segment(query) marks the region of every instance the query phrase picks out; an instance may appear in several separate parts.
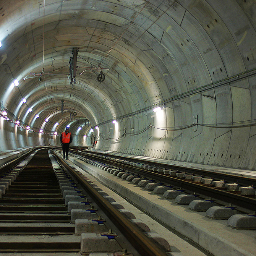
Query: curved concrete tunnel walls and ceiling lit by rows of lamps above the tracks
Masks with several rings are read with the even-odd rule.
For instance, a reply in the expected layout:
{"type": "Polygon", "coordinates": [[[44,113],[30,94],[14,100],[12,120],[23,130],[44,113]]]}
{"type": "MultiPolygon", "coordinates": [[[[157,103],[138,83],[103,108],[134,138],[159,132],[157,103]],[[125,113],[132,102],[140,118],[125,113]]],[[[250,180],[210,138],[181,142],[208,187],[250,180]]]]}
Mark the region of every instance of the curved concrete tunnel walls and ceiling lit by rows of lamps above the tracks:
{"type": "Polygon", "coordinates": [[[253,0],[0,4],[0,151],[73,146],[249,169],[253,0]]]}

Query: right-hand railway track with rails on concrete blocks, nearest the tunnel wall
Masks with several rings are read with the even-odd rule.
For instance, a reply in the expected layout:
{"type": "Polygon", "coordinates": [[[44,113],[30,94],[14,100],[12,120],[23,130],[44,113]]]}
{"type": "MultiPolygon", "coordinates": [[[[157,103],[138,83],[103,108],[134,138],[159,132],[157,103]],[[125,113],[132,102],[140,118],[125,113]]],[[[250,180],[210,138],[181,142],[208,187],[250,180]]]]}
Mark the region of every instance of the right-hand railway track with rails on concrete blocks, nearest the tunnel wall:
{"type": "MultiPolygon", "coordinates": [[[[149,190],[156,191],[156,187],[158,187],[162,194],[173,190],[175,192],[169,192],[169,195],[166,192],[164,196],[166,199],[174,199],[179,196],[181,200],[178,201],[178,198],[177,203],[180,204],[183,204],[183,202],[189,204],[196,198],[208,200],[207,206],[201,209],[205,211],[216,203],[222,206],[230,206],[232,209],[236,208],[241,213],[256,211],[255,178],[203,172],[202,170],[174,167],[173,165],[158,164],[145,160],[135,161],[128,157],[113,157],[105,154],[76,151],[73,151],[73,153],[115,168],[119,171],[115,173],[118,177],[127,178],[128,175],[131,175],[130,180],[137,178],[135,184],[149,190]],[[151,184],[149,185],[149,183],[151,184]],[[185,191],[189,197],[180,196],[185,191]]],[[[110,169],[108,171],[111,172],[110,169]]]]}

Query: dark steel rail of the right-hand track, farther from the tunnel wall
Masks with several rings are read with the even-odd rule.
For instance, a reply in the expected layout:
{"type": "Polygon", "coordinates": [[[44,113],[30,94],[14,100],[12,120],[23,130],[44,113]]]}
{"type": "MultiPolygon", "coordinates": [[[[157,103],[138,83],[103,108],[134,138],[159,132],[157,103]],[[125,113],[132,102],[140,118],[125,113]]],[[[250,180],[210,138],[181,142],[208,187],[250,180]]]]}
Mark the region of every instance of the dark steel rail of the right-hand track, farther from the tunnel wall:
{"type": "MultiPolygon", "coordinates": [[[[80,153],[81,154],[81,153],[80,153]]],[[[92,156],[90,156],[92,157],[92,156]]],[[[218,190],[216,188],[207,187],[204,185],[196,184],[190,181],[181,180],[179,178],[174,178],[168,175],[152,172],[150,170],[141,169],[139,167],[131,167],[130,165],[117,163],[112,160],[102,159],[100,157],[92,157],[94,160],[99,160],[105,164],[114,165],[117,168],[123,169],[124,171],[134,172],[139,175],[143,175],[154,180],[167,183],[173,186],[181,187],[185,190],[189,190],[192,193],[202,194],[213,199],[232,204],[234,206],[239,206],[251,211],[256,211],[256,199],[249,198],[246,196],[241,196],[238,194],[233,194],[227,191],[218,190]]]]}

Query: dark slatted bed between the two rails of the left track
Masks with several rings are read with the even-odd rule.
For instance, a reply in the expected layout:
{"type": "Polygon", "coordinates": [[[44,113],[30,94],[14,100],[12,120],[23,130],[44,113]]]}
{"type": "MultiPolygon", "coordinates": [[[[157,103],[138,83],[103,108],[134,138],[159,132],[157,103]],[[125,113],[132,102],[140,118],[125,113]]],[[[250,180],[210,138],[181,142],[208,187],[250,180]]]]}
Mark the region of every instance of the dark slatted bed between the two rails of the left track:
{"type": "Polygon", "coordinates": [[[79,251],[46,150],[24,167],[0,199],[0,251],[79,251]]]}

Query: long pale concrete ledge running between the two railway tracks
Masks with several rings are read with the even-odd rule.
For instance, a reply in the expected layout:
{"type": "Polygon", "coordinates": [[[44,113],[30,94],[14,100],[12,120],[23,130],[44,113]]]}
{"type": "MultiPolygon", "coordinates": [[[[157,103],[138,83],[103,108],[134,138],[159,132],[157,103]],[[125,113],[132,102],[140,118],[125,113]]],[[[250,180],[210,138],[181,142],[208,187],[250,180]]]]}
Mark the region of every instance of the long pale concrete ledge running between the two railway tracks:
{"type": "MultiPolygon", "coordinates": [[[[252,247],[254,235],[250,230],[243,230],[243,234],[234,235],[226,229],[225,220],[214,220],[209,224],[204,213],[190,212],[183,210],[183,207],[175,206],[173,201],[169,204],[158,199],[158,195],[148,194],[140,187],[134,187],[128,183],[120,182],[120,179],[104,175],[98,170],[91,168],[78,160],[73,160],[76,165],[94,175],[102,183],[117,191],[118,194],[129,198],[138,207],[150,212],[154,217],[174,228],[181,234],[190,238],[200,246],[210,251],[215,256],[254,256],[256,250],[252,247]],[[239,237],[239,239],[238,239],[239,237]]],[[[83,172],[83,171],[81,171],[83,172]]]]}

